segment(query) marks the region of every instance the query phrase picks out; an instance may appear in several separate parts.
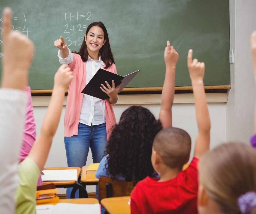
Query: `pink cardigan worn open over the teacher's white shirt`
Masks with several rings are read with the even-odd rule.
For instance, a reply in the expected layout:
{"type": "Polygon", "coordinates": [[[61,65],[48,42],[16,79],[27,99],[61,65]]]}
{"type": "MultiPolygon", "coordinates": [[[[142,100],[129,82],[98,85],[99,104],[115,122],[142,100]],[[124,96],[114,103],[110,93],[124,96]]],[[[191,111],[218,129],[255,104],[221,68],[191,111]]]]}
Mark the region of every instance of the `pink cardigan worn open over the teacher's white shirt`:
{"type": "MultiPolygon", "coordinates": [[[[78,54],[72,54],[73,61],[68,65],[73,71],[74,79],[69,84],[67,106],[64,116],[64,136],[71,137],[77,135],[78,123],[80,118],[82,100],[84,94],[81,91],[86,84],[86,62],[83,62],[81,56],[78,54]]],[[[105,64],[104,64],[105,67],[105,64]]],[[[117,73],[115,64],[112,64],[108,68],[104,68],[112,73],[117,73]]],[[[115,114],[112,106],[109,103],[109,99],[105,100],[105,112],[106,112],[106,130],[107,138],[111,134],[111,128],[116,124],[115,114]]]]}

